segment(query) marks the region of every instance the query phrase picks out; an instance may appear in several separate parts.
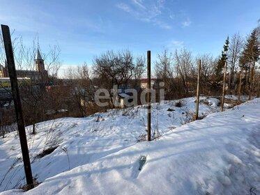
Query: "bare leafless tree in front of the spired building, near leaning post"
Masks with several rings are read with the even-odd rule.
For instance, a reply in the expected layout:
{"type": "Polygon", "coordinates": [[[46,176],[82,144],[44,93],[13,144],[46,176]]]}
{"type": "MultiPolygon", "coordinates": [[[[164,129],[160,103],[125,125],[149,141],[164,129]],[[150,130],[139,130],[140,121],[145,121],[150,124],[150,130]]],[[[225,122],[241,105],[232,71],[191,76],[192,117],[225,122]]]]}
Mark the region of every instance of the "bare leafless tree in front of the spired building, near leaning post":
{"type": "MultiPolygon", "coordinates": [[[[0,41],[0,60],[4,61],[3,42],[0,41]]],[[[35,124],[45,120],[47,104],[50,104],[49,100],[47,100],[45,86],[54,81],[61,67],[59,59],[61,49],[59,49],[58,45],[54,45],[49,47],[47,54],[43,54],[45,70],[43,72],[36,71],[35,56],[37,47],[36,39],[33,40],[31,46],[24,45],[22,36],[13,39],[17,77],[24,79],[24,81],[20,82],[24,120],[26,125],[33,125],[33,134],[36,133],[35,124]],[[30,81],[25,77],[29,77],[30,81]]]]}

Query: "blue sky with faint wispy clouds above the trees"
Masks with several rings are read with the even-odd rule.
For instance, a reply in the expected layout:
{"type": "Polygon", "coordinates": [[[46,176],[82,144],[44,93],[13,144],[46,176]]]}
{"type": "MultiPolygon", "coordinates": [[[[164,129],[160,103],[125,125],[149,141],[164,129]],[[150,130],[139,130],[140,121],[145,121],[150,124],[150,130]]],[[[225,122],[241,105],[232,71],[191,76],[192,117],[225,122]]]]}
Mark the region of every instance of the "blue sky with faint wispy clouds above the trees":
{"type": "Polygon", "coordinates": [[[227,36],[246,36],[260,19],[259,0],[1,0],[0,22],[40,48],[59,44],[64,67],[92,63],[108,49],[134,54],[186,47],[221,53],[227,36]]]}

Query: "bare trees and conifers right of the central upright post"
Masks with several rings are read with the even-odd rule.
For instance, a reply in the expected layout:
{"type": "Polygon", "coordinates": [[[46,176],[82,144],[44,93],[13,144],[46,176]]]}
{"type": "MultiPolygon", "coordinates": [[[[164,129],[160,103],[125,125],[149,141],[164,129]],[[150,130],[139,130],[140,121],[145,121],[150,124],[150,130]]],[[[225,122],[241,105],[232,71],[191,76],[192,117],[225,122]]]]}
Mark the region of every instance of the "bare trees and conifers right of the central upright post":
{"type": "Polygon", "coordinates": [[[155,77],[165,81],[167,99],[194,95],[197,61],[201,59],[201,93],[220,95],[224,65],[227,62],[227,93],[257,95],[259,93],[260,26],[243,38],[239,33],[227,37],[220,56],[192,56],[188,49],[165,50],[155,61],[155,77]],[[240,77],[241,75],[241,77],[240,77]]]}

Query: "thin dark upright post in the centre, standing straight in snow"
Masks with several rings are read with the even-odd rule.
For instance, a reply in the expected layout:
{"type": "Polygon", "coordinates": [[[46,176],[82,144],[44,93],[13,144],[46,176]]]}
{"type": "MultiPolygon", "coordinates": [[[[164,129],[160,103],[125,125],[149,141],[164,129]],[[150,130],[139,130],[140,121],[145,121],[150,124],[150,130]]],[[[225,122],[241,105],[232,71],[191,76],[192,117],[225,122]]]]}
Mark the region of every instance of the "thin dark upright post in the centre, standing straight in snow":
{"type": "Polygon", "coordinates": [[[147,51],[147,140],[151,141],[151,51],[147,51]]]}

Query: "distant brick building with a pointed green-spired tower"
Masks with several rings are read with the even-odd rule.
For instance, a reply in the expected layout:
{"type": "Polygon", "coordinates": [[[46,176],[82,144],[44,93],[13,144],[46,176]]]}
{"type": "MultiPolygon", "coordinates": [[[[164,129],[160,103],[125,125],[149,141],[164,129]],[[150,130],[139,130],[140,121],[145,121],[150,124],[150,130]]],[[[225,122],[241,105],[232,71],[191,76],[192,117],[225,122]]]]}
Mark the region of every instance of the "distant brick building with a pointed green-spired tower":
{"type": "MultiPolygon", "coordinates": [[[[16,70],[17,77],[30,78],[32,84],[47,84],[48,72],[45,70],[44,60],[37,49],[35,58],[36,70],[16,70]]],[[[5,66],[0,64],[0,78],[9,77],[8,65],[5,61],[5,66]]]]}

